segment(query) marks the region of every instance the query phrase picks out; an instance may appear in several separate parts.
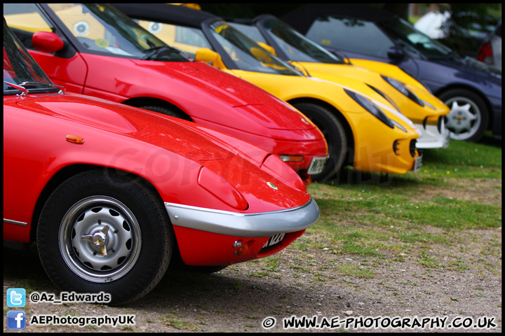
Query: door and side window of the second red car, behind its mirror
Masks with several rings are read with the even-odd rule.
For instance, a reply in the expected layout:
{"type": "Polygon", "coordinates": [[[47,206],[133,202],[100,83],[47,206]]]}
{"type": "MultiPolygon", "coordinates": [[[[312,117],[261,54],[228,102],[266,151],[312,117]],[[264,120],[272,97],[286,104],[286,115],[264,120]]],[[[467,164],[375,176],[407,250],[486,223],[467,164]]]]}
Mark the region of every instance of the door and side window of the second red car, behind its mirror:
{"type": "Polygon", "coordinates": [[[16,36],[56,85],[70,92],[83,93],[88,66],[79,52],[35,3],[4,3],[4,18],[16,36]],[[57,34],[65,47],[54,53],[36,50],[32,36],[37,31],[57,34]]]}

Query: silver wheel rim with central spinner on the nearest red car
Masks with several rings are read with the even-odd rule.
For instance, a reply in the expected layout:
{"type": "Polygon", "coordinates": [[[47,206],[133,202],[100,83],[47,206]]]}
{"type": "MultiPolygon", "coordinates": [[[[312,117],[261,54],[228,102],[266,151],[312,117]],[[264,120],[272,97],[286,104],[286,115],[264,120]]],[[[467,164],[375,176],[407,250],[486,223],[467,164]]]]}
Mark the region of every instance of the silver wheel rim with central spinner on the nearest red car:
{"type": "Polygon", "coordinates": [[[74,204],[62,219],[58,238],[60,253],[72,272],[96,283],[128,274],[142,245],[133,212],[106,196],[74,204]]]}

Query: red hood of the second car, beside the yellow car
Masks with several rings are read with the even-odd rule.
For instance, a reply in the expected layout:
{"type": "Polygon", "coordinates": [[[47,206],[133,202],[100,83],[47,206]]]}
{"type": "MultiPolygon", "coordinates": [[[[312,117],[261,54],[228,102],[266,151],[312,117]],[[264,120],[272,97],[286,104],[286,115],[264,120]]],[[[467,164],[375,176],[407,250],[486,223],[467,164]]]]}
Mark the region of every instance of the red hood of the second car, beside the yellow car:
{"type": "Polygon", "coordinates": [[[202,62],[156,62],[132,59],[137,66],[158,71],[207,92],[230,106],[241,106],[257,123],[276,130],[311,130],[314,125],[292,106],[246,80],[202,62]],[[296,113],[293,113],[295,111],[296,113]],[[305,119],[302,120],[302,119],[305,119]]]}

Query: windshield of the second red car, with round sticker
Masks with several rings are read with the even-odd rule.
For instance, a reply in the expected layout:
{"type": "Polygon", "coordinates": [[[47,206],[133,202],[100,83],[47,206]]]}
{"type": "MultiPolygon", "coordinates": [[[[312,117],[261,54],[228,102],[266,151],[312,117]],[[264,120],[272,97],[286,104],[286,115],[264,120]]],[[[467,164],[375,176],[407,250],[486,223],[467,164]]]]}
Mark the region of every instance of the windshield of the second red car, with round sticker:
{"type": "Polygon", "coordinates": [[[169,47],[112,6],[98,3],[48,3],[47,6],[83,52],[188,62],[179,50],[169,47]]]}

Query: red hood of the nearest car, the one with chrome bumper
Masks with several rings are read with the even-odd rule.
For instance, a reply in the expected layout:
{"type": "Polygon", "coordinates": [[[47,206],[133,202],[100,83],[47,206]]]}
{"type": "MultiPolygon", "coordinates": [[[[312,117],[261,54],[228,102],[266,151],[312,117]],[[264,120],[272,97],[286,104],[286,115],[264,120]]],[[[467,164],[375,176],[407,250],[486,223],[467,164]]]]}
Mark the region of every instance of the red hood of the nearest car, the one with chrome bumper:
{"type": "MultiPolygon", "coordinates": [[[[184,121],[176,118],[80,94],[32,97],[36,99],[28,97],[18,101],[17,105],[166,148],[196,162],[222,160],[238,155],[238,151],[220,139],[184,125],[184,121]]],[[[8,104],[8,99],[4,99],[4,104],[8,104]]]]}

